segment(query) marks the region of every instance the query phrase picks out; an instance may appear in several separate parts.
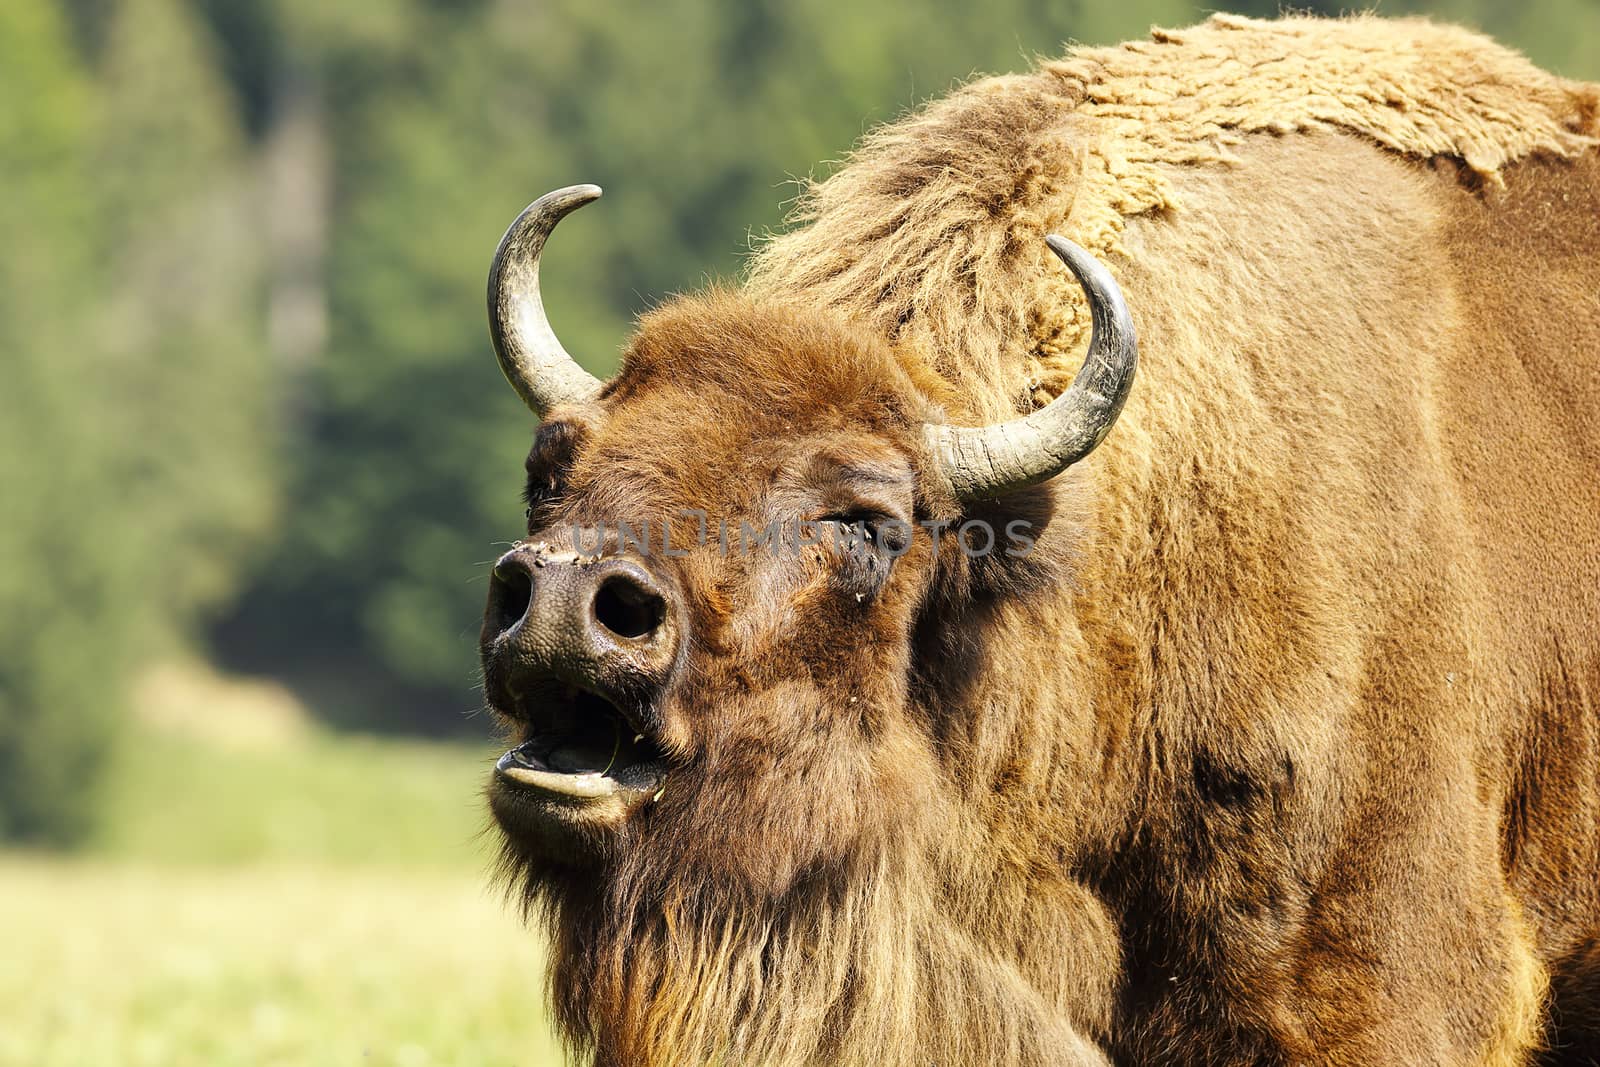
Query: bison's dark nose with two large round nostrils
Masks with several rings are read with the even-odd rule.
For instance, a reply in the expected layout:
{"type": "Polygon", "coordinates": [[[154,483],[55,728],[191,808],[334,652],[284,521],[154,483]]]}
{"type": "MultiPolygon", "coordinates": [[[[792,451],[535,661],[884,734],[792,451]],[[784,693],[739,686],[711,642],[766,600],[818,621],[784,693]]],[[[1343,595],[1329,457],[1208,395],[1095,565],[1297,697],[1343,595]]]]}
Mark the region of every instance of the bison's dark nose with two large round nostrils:
{"type": "Polygon", "coordinates": [[[659,675],[674,640],[666,593],[637,561],[520,545],[494,563],[485,651],[531,670],[608,688],[659,675]]]}

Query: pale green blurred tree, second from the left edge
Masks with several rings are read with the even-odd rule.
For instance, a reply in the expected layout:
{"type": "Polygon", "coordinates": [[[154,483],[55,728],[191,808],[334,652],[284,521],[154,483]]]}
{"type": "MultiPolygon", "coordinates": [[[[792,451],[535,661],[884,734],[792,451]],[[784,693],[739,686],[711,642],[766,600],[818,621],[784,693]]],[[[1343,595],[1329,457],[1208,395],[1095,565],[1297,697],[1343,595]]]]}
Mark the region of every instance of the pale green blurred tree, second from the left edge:
{"type": "MultiPolygon", "coordinates": [[[[213,43],[182,0],[118,0],[99,64],[98,365],[122,387],[106,472],[155,621],[234,589],[275,514],[259,181],[213,43]]],[[[162,624],[157,622],[157,624],[162,624]]]]}

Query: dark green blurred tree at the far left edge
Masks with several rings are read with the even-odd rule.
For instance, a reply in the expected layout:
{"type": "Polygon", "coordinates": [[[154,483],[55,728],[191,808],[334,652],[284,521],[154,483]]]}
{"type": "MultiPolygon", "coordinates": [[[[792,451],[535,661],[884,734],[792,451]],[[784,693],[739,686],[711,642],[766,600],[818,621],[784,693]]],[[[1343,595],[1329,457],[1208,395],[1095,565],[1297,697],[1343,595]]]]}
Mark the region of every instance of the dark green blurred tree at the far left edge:
{"type": "Polygon", "coordinates": [[[0,109],[0,838],[69,840],[114,721],[126,587],[86,403],[93,93],[50,5],[0,5],[0,86],[29,101],[0,109]]]}

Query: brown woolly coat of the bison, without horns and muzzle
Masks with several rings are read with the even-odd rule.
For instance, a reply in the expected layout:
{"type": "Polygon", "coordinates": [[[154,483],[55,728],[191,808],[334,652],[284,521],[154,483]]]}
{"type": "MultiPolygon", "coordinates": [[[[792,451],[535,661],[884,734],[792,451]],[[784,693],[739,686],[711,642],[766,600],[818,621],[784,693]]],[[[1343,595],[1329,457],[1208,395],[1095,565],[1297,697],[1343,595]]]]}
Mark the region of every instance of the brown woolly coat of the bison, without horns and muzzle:
{"type": "Polygon", "coordinates": [[[507,837],[574,1046],[1594,1062],[1597,112],[1448,27],[1216,18],[874,133],[744,290],[648,315],[541,430],[530,533],[866,494],[1038,544],[651,561],[666,793],[581,857],[507,837]],[[1075,370],[1045,232],[1122,283],[1138,381],[963,510],[923,421],[1075,370]]]}

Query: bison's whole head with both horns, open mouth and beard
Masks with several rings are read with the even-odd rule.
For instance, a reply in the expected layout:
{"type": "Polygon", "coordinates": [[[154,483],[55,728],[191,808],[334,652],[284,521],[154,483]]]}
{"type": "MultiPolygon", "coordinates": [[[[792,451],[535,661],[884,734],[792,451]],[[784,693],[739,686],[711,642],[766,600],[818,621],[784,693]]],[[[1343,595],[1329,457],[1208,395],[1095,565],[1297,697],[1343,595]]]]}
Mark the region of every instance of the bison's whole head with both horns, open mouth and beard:
{"type": "Polygon", "coordinates": [[[544,418],[482,633],[514,742],[490,785],[507,872],[549,920],[565,1029],[603,1062],[826,1057],[931,1003],[926,974],[885,974],[949,958],[907,923],[978,833],[941,744],[944,624],[1043,566],[1048,498],[1016,490],[1109,430],[1131,326],[1109,275],[1050,238],[1094,341],[1013,422],[954,427],[960,397],[917,358],[738,293],[646,315],[602,386],[538,294],[549,230],[597,195],[530,206],[490,278],[501,366],[544,418]]]}

